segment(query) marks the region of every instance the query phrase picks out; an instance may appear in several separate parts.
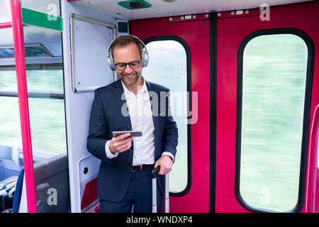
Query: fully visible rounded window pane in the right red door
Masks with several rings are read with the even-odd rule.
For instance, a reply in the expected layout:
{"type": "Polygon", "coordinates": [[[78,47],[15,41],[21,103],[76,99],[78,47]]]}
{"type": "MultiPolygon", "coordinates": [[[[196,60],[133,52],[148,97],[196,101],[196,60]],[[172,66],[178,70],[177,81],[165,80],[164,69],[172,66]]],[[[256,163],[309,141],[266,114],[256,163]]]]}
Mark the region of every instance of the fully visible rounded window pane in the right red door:
{"type": "Polygon", "coordinates": [[[293,33],[255,35],[238,56],[237,199],[252,211],[292,211],[308,140],[308,46],[293,33]]]}

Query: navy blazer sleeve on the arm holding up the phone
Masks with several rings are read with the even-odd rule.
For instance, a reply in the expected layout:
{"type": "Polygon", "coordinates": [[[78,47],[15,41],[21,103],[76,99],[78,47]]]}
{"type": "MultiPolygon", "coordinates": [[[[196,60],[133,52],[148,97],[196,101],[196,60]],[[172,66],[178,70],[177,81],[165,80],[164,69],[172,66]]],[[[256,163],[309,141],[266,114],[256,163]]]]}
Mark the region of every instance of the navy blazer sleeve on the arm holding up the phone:
{"type": "Polygon", "coordinates": [[[96,89],[94,92],[94,101],[91,107],[91,116],[89,120],[89,135],[87,137],[86,148],[89,153],[102,161],[111,164],[116,158],[109,160],[106,156],[105,145],[108,141],[108,124],[104,114],[101,101],[101,94],[96,89]]]}

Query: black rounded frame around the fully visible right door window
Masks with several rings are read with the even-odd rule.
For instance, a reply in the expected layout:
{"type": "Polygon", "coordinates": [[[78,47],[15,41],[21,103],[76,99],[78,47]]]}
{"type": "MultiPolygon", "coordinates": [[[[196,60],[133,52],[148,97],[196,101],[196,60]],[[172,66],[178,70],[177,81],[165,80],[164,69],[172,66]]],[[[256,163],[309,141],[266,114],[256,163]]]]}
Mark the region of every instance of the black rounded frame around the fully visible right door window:
{"type": "Polygon", "coordinates": [[[243,54],[247,43],[253,38],[261,35],[281,35],[290,34],[297,35],[303,39],[308,48],[308,60],[306,69],[306,89],[303,106],[303,131],[301,138],[301,165],[298,185],[298,200],[296,206],[293,209],[283,213],[300,212],[303,209],[305,202],[305,188],[306,188],[306,167],[307,167],[307,155],[308,155],[308,143],[309,143],[309,130],[310,130],[310,108],[311,108],[311,94],[313,87],[313,67],[314,67],[314,45],[311,38],[303,31],[296,28],[276,28],[276,29],[264,29],[255,31],[247,35],[237,52],[237,115],[236,115],[236,148],[235,148],[235,196],[237,201],[248,211],[252,212],[278,212],[268,209],[261,209],[250,204],[242,199],[240,194],[240,157],[241,157],[241,128],[242,128],[242,74],[243,74],[243,54]]]}

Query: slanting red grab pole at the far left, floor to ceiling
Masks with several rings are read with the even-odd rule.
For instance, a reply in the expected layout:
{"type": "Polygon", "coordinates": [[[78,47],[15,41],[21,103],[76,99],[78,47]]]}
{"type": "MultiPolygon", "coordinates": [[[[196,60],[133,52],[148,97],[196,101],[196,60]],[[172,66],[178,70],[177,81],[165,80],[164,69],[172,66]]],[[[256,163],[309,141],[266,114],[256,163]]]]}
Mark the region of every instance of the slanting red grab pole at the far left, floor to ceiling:
{"type": "Polygon", "coordinates": [[[18,101],[20,109],[21,135],[23,147],[24,175],[26,177],[26,195],[28,213],[37,212],[35,197],[35,180],[28,109],[28,89],[26,82],[26,59],[24,55],[23,26],[19,0],[11,0],[12,30],[14,55],[16,59],[16,79],[18,84],[18,101]]]}

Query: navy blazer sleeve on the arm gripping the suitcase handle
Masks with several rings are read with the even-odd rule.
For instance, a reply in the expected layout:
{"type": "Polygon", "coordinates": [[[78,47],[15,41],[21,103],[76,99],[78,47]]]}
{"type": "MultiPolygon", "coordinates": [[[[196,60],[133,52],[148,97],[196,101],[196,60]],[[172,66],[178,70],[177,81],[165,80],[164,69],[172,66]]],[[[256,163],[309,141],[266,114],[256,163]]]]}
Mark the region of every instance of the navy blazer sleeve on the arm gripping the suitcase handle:
{"type": "MultiPolygon", "coordinates": [[[[178,130],[177,123],[174,121],[172,116],[172,111],[170,107],[169,101],[169,90],[167,90],[167,100],[166,100],[166,114],[164,117],[164,133],[163,133],[163,141],[164,147],[163,152],[172,153],[172,155],[176,155],[177,152],[177,143],[178,143],[178,130]]],[[[175,158],[174,158],[175,160],[175,158]]]]}

